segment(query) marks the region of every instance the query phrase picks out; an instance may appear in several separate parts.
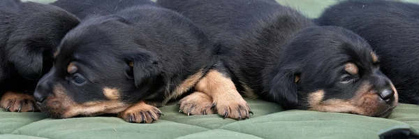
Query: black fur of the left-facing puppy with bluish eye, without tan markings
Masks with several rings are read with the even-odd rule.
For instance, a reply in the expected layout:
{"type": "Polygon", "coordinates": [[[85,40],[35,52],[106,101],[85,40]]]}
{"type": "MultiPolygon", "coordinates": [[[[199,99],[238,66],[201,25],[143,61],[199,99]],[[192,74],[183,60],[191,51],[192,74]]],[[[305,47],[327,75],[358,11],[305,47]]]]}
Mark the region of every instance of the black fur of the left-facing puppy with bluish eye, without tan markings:
{"type": "Polygon", "coordinates": [[[61,115],[47,110],[44,98],[54,95],[55,85],[62,85],[76,103],[107,101],[105,87],[118,89],[124,103],[161,103],[168,92],[215,61],[214,44],[186,17],[148,4],[134,6],[91,17],[71,30],[35,96],[41,110],[53,117],[61,115]],[[70,62],[78,66],[77,73],[66,71],[70,62]],[[85,82],[78,84],[80,80],[85,82]]]}

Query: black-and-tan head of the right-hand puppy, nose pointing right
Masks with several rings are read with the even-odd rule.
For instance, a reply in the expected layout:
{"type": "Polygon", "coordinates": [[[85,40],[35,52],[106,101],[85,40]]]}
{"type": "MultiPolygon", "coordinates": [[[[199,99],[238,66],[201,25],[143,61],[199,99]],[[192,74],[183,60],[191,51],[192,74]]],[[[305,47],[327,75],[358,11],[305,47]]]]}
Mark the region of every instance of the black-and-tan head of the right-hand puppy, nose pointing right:
{"type": "Polygon", "coordinates": [[[367,42],[339,27],[312,27],[288,43],[271,94],[288,108],[387,117],[397,91],[367,42]]]}

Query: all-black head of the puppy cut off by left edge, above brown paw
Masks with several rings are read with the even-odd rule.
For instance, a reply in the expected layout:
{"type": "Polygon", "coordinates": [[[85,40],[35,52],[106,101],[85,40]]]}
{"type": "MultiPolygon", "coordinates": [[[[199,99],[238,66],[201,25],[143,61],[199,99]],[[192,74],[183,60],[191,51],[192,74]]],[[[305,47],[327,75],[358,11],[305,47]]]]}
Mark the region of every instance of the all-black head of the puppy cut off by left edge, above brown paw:
{"type": "MultiPolygon", "coordinates": [[[[5,45],[6,59],[19,75],[28,80],[38,80],[52,66],[52,54],[61,38],[79,20],[56,6],[41,3],[20,3],[19,10],[2,20],[8,24],[5,45]]],[[[3,21],[3,22],[4,22],[3,21]]]]}

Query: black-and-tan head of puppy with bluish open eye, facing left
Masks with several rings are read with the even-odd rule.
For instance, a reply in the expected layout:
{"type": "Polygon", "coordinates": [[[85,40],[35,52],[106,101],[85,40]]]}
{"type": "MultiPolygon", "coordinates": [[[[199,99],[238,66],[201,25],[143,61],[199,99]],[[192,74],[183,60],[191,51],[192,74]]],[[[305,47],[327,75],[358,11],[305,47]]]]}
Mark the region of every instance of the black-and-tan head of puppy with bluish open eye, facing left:
{"type": "MultiPolygon", "coordinates": [[[[34,96],[52,117],[117,113],[163,80],[159,57],[140,48],[122,17],[95,17],[68,32],[34,96]]],[[[144,42],[142,45],[149,45],[144,42]]]]}

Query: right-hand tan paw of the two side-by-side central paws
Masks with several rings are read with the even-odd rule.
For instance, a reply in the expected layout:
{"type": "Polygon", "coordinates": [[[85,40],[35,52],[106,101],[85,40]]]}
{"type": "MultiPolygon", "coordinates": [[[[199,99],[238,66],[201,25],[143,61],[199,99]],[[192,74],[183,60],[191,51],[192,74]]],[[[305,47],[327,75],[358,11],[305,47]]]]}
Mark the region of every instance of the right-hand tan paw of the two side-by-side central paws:
{"type": "Polygon", "coordinates": [[[231,119],[248,119],[253,115],[250,106],[240,97],[225,96],[214,99],[214,105],[219,115],[231,119]]]}

